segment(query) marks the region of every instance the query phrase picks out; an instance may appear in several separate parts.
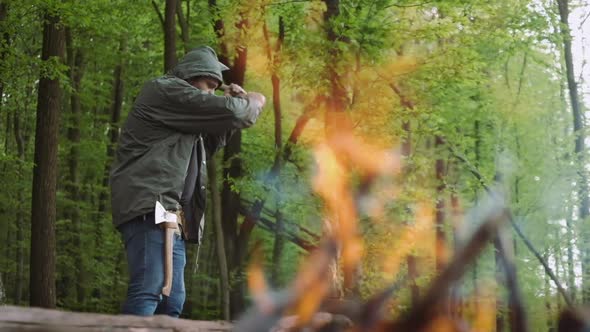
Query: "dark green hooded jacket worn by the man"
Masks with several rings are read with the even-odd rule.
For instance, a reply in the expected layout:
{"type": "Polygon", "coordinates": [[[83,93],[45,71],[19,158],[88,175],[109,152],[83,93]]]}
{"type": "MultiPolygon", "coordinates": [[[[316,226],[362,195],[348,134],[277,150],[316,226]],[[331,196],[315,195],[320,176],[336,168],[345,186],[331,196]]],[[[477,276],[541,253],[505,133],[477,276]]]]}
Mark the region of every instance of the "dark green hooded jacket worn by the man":
{"type": "Polygon", "coordinates": [[[249,97],[208,94],[186,81],[209,76],[221,83],[227,69],[213,49],[199,47],[170,73],[145,83],[121,132],[111,170],[115,226],[154,211],[159,201],[167,210],[182,209],[186,240],[200,242],[207,156],[224,146],[234,130],[252,126],[261,111],[249,97]],[[194,188],[194,194],[187,188],[194,188]],[[186,197],[188,192],[192,197],[186,197]]]}

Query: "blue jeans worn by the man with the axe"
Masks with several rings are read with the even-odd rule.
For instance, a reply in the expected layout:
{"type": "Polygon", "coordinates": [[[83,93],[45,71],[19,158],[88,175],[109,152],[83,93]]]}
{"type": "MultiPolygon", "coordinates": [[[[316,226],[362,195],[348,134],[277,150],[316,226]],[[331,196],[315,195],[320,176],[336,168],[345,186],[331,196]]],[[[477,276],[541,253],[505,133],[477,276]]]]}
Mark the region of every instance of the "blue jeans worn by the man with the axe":
{"type": "Polygon", "coordinates": [[[154,222],[154,214],[138,217],[118,227],[127,252],[129,286],[122,313],[138,316],[178,317],[186,296],[184,240],[174,234],[173,277],[170,296],[162,295],[164,285],[164,230],[154,222]]]}

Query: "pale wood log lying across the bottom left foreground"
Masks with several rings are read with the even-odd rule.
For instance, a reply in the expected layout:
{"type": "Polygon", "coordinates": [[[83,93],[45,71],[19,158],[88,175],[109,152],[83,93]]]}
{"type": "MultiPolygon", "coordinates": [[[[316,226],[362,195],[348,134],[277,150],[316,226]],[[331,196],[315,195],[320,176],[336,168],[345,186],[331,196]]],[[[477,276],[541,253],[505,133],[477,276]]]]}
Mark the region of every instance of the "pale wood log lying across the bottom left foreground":
{"type": "Polygon", "coordinates": [[[0,331],[8,332],[202,332],[230,331],[231,328],[230,323],[222,321],[193,321],[163,315],[140,317],[0,306],[0,331]]]}

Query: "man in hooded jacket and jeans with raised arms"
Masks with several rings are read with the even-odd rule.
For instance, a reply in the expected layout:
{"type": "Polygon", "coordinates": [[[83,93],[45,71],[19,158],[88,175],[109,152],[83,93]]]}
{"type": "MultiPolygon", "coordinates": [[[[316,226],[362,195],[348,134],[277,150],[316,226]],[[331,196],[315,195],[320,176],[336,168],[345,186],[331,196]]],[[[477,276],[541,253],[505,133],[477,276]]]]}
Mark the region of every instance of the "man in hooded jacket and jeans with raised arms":
{"type": "Polygon", "coordinates": [[[227,69],[213,49],[192,50],[143,86],[123,127],[110,184],[113,224],[129,266],[124,314],[178,317],[182,311],[185,241],[200,243],[203,235],[206,160],[234,130],[252,126],[266,102],[235,84],[215,95],[227,69]],[[162,295],[168,240],[161,225],[175,229],[169,296],[162,295]]]}

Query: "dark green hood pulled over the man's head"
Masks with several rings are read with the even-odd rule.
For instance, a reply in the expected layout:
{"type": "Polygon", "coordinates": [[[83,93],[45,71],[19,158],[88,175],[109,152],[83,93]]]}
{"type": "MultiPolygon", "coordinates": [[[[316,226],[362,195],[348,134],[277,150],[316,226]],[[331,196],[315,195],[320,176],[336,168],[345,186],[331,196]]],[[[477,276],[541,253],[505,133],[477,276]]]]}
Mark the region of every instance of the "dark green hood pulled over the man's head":
{"type": "Polygon", "coordinates": [[[174,67],[171,74],[183,80],[195,76],[212,77],[223,83],[222,71],[229,68],[217,60],[217,54],[209,46],[200,46],[188,52],[174,67]]]}

